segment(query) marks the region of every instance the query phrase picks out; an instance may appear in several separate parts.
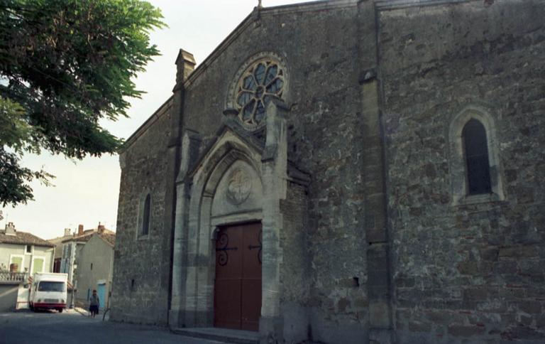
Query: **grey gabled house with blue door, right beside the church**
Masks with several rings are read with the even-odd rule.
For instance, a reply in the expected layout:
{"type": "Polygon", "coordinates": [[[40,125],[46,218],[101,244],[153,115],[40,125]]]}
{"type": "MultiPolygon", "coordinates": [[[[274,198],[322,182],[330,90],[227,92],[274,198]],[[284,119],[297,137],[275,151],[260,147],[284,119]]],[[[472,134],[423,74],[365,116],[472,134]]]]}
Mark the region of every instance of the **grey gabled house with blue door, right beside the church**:
{"type": "Polygon", "coordinates": [[[97,290],[100,308],[108,307],[111,280],[114,271],[114,245],[116,235],[99,227],[77,256],[76,302],[87,306],[93,289],[97,290]]]}

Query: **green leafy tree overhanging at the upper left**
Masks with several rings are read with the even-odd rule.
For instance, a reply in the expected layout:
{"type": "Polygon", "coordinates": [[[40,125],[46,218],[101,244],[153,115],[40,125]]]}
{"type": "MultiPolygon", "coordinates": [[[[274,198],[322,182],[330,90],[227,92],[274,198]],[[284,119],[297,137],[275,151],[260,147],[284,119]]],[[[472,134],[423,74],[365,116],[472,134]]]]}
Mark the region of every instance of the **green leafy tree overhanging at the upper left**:
{"type": "Polygon", "coordinates": [[[42,149],[69,158],[113,154],[99,119],[126,117],[131,80],[159,55],[160,10],[141,0],[0,0],[0,203],[33,199],[52,175],[21,166],[42,149]]]}

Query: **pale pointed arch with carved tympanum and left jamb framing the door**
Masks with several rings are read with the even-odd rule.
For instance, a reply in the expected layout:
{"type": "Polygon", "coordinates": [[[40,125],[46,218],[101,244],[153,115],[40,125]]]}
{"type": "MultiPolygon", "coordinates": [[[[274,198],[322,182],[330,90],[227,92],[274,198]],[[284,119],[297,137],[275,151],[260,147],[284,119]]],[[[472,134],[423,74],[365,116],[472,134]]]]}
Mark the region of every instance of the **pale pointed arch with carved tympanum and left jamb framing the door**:
{"type": "Polygon", "coordinates": [[[185,321],[194,326],[214,326],[216,230],[263,220],[259,152],[229,131],[216,147],[192,178],[185,321]]]}

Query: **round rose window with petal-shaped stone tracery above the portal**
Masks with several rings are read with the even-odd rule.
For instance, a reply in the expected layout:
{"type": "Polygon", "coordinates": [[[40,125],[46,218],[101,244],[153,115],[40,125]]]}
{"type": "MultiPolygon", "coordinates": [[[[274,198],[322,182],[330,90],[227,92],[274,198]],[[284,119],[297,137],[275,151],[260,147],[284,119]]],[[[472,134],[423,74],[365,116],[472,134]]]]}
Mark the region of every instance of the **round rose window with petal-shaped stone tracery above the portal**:
{"type": "Polygon", "coordinates": [[[270,58],[258,60],[243,72],[236,88],[236,107],[243,124],[257,127],[263,122],[265,107],[273,98],[282,98],[284,85],[284,68],[270,58]]]}

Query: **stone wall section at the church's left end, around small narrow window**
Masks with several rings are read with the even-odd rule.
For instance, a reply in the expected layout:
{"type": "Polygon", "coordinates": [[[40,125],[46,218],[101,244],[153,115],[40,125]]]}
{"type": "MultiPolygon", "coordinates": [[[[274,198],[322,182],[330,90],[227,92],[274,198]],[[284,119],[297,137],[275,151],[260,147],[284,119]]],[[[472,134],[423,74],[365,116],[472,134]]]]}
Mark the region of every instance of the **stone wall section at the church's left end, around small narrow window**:
{"type": "Polygon", "coordinates": [[[167,144],[172,130],[170,102],[137,132],[121,153],[121,186],[114,249],[111,319],[167,323],[171,228],[165,227],[167,144]],[[149,234],[139,235],[138,217],[151,195],[149,234]]]}

